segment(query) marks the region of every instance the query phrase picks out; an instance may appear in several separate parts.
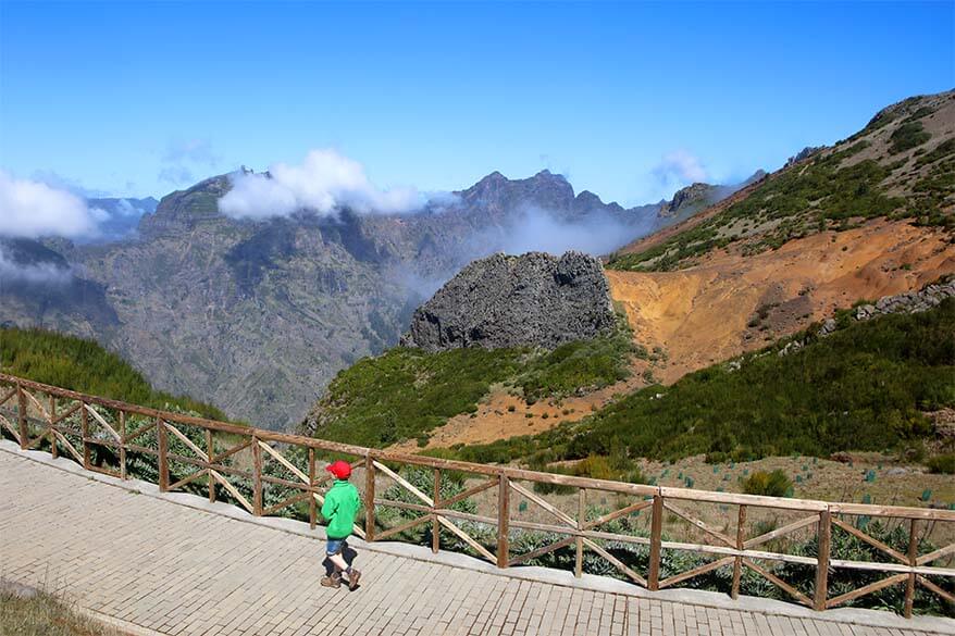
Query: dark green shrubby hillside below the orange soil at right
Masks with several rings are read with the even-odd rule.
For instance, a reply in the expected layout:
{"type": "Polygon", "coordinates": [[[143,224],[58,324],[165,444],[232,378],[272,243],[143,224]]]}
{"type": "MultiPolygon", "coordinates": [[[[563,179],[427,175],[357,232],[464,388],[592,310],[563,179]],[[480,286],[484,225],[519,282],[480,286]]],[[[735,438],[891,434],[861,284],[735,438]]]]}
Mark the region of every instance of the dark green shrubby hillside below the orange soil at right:
{"type": "MultiPolygon", "coordinates": [[[[712,461],[839,450],[922,447],[923,412],[955,407],[955,300],[913,315],[856,323],[843,316],[827,338],[779,356],[780,342],[670,387],[636,391],[578,424],[533,437],[457,448],[472,461],[607,457],[712,461]]],[[[798,337],[798,336],[797,336],[798,337]]]]}

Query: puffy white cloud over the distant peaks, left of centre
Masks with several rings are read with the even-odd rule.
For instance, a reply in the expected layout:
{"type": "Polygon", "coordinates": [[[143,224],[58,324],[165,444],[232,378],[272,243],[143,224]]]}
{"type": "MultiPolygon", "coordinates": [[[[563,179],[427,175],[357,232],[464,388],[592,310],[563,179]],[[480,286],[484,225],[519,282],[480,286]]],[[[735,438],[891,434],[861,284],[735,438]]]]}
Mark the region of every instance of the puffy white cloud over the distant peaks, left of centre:
{"type": "Polygon", "coordinates": [[[235,219],[266,219],[298,210],[331,214],[339,207],[361,214],[409,212],[422,202],[414,188],[376,188],[360,163],[325,149],[312,150],[300,165],[276,163],[268,175],[236,175],[219,209],[235,219]]]}

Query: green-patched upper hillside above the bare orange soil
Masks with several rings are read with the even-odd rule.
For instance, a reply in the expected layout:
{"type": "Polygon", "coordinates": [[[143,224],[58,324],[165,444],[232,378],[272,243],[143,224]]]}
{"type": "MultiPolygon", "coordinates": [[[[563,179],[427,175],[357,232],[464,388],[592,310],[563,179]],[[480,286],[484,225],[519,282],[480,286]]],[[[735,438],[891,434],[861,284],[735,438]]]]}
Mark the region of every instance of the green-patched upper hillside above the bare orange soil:
{"type": "Polygon", "coordinates": [[[734,246],[752,254],[875,217],[955,228],[953,122],[953,92],[900,102],[724,210],[646,249],[622,250],[608,267],[675,270],[714,249],[734,246]]]}

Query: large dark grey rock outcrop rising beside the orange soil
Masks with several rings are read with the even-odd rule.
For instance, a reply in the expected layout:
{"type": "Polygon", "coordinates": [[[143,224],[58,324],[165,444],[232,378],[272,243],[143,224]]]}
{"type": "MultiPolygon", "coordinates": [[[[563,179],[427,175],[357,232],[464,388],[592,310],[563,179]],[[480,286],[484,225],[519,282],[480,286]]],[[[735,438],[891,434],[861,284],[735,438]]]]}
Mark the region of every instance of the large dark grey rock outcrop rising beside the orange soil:
{"type": "Polygon", "coordinates": [[[474,261],[411,317],[401,338],[427,351],[543,347],[592,338],[615,324],[600,261],[580,252],[494,254],[474,261]]]}

